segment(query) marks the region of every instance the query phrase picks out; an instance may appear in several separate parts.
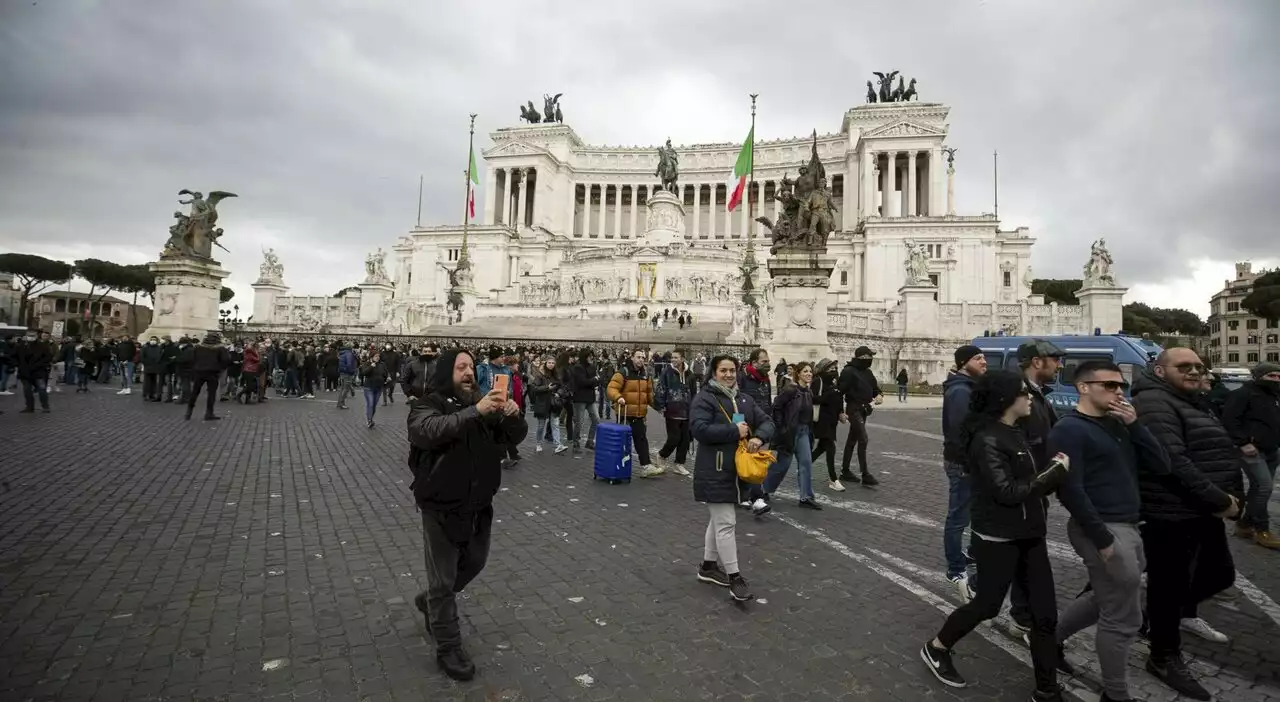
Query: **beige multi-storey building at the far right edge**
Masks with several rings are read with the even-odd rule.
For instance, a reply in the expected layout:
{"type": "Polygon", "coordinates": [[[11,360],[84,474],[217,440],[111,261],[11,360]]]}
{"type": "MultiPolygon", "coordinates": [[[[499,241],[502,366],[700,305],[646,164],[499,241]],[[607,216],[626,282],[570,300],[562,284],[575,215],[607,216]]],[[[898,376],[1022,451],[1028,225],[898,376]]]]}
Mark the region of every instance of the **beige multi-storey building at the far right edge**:
{"type": "Polygon", "coordinates": [[[1253,291],[1253,281],[1267,273],[1253,264],[1235,264],[1235,279],[1210,298],[1208,356],[1215,368],[1249,368],[1261,361],[1280,363],[1280,320],[1253,316],[1240,301],[1253,291]]]}

